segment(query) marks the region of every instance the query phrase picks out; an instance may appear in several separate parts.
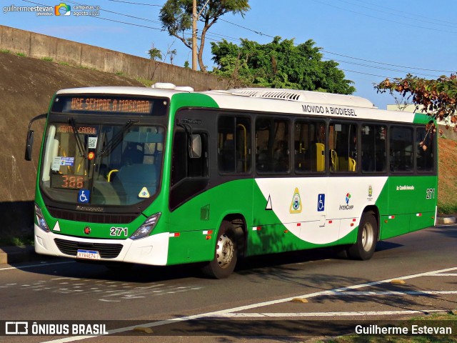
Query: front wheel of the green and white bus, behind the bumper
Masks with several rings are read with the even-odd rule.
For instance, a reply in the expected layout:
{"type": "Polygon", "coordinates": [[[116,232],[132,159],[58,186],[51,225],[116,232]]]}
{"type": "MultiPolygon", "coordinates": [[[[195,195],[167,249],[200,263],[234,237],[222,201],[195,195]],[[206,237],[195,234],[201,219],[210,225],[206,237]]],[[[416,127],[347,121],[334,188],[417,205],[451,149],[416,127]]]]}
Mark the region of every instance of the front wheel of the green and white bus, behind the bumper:
{"type": "Polygon", "coordinates": [[[237,255],[235,229],[231,222],[224,221],[219,228],[214,259],[206,264],[201,271],[208,277],[225,279],[235,269],[237,255]]]}

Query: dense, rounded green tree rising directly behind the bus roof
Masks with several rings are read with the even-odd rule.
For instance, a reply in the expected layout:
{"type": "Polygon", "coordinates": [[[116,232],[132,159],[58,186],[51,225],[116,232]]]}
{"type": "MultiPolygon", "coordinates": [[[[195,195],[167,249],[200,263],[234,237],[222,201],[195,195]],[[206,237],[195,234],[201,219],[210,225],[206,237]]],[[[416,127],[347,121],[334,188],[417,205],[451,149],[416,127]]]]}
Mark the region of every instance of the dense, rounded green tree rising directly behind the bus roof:
{"type": "Polygon", "coordinates": [[[321,48],[309,39],[295,45],[293,39],[276,36],[271,43],[241,39],[241,45],[224,40],[211,42],[214,74],[227,76],[233,86],[255,84],[263,87],[328,91],[352,94],[353,81],[345,79],[335,61],[322,61],[321,48]]]}

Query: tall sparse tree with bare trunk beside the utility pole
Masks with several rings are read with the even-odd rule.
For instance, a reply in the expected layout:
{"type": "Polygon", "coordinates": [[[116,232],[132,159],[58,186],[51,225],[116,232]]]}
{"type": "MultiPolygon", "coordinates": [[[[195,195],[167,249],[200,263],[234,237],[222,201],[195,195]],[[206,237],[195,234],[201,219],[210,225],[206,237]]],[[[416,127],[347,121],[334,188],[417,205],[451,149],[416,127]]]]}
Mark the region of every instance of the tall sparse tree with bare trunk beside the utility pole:
{"type": "MultiPolygon", "coordinates": [[[[204,28],[197,34],[200,41],[198,46],[198,59],[200,70],[206,72],[203,63],[203,51],[205,46],[206,32],[216,23],[220,16],[231,12],[244,16],[251,9],[248,0],[197,0],[197,13],[201,12],[199,21],[204,23],[204,28]],[[206,4],[206,2],[208,4],[206,4]]],[[[192,49],[192,37],[186,38],[186,31],[192,29],[192,0],[168,0],[160,10],[159,19],[162,28],[181,40],[184,45],[192,49]]]]}

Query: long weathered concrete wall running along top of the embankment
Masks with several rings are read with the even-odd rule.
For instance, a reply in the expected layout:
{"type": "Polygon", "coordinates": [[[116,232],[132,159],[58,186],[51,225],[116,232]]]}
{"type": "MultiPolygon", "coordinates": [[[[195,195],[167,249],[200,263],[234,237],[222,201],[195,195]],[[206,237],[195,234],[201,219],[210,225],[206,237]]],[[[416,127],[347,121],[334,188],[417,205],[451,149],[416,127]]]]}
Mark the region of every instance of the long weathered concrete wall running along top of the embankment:
{"type": "Polygon", "coordinates": [[[192,86],[196,91],[229,88],[227,80],[211,74],[3,25],[0,25],[0,49],[154,82],[192,86]]]}

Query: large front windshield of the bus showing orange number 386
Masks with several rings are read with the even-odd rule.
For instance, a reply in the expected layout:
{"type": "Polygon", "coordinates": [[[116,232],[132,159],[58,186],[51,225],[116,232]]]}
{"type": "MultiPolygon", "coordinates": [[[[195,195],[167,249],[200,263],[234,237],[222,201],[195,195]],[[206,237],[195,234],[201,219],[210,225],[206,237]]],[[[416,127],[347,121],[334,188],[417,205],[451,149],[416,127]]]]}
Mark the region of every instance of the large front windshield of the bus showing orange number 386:
{"type": "Polygon", "coordinates": [[[49,123],[41,189],[57,202],[132,205],[159,192],[164,128],[124,124],[49,123]]]}

